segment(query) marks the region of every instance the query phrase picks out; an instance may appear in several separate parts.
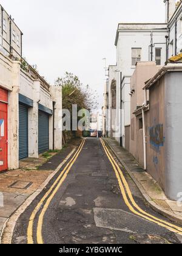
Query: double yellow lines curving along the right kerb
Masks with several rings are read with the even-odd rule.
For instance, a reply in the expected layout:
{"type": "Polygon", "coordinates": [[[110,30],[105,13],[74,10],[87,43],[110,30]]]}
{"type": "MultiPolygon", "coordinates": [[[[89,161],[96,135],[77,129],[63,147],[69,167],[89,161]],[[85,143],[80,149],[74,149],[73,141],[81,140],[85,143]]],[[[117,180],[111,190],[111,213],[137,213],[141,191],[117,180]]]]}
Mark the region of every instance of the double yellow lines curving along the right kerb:
{"type": "Polygon", "coordinates": [[[106,152],[107,157],[109,158],[110,163],[112,164],[112,167],[115,171],[116,177],[118,179],[118,183],[120,185],[121,194],[123,195],[123,199],[127,207],[132,213],[135,213],[135,215],[138,215],[144,219],[147,219],[148,221],[152,221],[155,224],[158,224],[161,227],[165,227],[166,229],[178,233],[182,235],[182,228],[175,226],[174,224],[163,221],[163,219],[157,218],[153,215],[150,215],[149,213],[142,210],[135,202],[132,196],[132,192],[130,191],[129,185],[123,175],[123,172],[120,169],[120,166],[116,163],[115,159],[110,154],[109,150],[106,147],[106,144],[104,143],[103,139],[100,139],[101,143],[103,145],[104,151],[106,152]]]}

